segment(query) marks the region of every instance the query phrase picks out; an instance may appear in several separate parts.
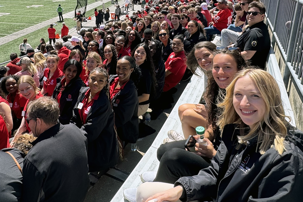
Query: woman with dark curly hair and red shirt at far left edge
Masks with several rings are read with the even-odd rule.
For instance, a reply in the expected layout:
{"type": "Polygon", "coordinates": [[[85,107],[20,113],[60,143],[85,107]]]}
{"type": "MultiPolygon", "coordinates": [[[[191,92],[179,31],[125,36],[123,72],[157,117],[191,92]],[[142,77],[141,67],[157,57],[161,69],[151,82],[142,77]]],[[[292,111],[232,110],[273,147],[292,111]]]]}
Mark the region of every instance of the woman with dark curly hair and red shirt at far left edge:
{"type": "Polygon", "coordinates": [[[10,75],[1,81],[1,89],[7,94],[6,99],[9,103],[9,107],[12,110],[13,128],[15,131],[19,128],[22,121],[22,111],[26,104],[27,99],[18,92],[18,81],[20,76],[10,75]]]}

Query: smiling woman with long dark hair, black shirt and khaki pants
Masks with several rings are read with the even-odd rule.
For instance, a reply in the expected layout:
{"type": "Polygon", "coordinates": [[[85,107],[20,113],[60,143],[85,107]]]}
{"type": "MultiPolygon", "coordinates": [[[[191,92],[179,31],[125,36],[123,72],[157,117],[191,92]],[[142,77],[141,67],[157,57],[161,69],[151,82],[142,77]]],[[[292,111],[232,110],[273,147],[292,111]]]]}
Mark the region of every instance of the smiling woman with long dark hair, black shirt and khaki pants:
{"type": "Polygon", "coordinates": [[[155,95],[157,81],[155,67],[151,58],[151,52],[145,43],[139,44],[132,52],[136,64],[141,70],[141,78],[138,85],[139,110],[138,116],[145,114],[149,106],[149,100],[155,95]]]}

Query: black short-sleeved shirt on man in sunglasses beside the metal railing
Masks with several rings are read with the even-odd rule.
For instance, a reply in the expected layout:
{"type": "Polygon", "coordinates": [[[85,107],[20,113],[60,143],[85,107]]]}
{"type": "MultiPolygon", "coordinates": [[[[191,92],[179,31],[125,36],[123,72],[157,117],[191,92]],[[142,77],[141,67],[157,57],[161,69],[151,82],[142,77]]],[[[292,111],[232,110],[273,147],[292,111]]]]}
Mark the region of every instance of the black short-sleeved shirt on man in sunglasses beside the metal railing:
{"type": "Polygon", "coordinates": [[[270,50],[270,37],[265,23],[262,21],[248,27],[237,39],[235,47],[241,51],[256,51],[249,61],[252,66],[264,69],[270,50]]]}

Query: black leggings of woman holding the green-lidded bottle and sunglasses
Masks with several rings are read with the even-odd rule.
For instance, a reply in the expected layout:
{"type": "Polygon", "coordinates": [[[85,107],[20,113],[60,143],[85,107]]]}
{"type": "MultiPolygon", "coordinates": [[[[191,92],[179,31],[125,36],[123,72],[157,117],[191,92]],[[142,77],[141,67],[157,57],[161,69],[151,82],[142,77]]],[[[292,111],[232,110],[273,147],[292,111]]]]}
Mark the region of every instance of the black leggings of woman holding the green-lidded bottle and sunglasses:
{"type": "Polygon", "coordinates": [[[186,151],[185,141],[168,142],[158,148],[160,165],[154,182],[175,184],[180,177],[197,175],[210,165],[211,159],[186,151]]]}

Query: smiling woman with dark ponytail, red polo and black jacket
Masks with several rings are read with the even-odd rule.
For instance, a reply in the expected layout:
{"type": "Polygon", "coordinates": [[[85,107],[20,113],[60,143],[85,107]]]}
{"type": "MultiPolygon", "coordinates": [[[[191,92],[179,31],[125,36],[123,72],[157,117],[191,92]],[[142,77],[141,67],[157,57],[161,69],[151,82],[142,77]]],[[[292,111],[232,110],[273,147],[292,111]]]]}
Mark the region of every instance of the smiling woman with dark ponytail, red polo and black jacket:
{"type": "Polygon", "coordinates": [[[124,143],[135,144],[138,135],[138,94],[137,88],[141,71],[134,58],[123,56],[117,62],[117,76],[109,79],[109,92],[115,112],[117,134],[124,143]]]}

